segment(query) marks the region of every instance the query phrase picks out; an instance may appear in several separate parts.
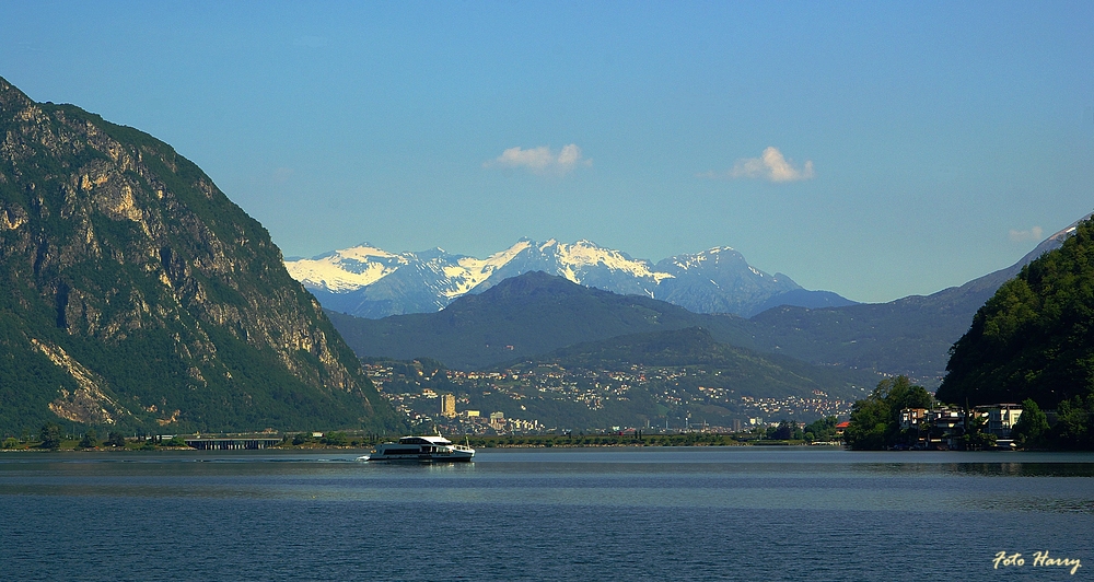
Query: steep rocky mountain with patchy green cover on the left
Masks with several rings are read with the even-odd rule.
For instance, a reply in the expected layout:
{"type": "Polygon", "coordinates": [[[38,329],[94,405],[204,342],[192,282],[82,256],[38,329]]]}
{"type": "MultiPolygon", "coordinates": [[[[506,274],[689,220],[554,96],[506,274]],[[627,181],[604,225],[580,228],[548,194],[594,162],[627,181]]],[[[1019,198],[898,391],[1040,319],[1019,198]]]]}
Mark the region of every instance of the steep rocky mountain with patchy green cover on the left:
{"type": "Polygon", "coordinates": [[[84,423],[394,427],[266,230],[170,146],[3,79],[0,132],[0,348],[62,372],[0,389],[84,423]]]}

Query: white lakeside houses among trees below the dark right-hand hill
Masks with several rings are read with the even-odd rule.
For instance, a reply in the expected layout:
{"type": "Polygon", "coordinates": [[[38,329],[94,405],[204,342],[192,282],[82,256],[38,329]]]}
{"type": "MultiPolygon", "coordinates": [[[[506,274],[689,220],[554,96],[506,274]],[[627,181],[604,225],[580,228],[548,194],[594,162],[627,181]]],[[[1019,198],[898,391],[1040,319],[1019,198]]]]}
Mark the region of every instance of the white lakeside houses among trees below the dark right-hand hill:
{"type": "Polygon", "coordinates": [[[908,434],[915,449],[955,449],[964,446],[966,434],[982,432],[996,439],[996,445],[1013,444],[1011,430],[1022,417],[1022,406],[994,404],[964,410],[954,407],[905,408],[900,410],[900,430],[908,434]]]}

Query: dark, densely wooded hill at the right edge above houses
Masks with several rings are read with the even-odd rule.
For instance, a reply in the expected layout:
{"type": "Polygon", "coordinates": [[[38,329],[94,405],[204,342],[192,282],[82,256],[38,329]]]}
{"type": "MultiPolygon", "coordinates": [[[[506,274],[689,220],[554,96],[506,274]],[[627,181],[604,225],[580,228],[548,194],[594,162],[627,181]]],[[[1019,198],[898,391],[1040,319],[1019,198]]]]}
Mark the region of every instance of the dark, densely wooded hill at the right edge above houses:
{"type": "Polygon", "coordinates": [[[999,288],[946,369],[940,399],[1029,400],[1036,417],[1020,434],[1031,446],[1094,449],[1094,219],[999,288]],[[1050,430],[1041,408],[1056,409],[1050,430]]]}

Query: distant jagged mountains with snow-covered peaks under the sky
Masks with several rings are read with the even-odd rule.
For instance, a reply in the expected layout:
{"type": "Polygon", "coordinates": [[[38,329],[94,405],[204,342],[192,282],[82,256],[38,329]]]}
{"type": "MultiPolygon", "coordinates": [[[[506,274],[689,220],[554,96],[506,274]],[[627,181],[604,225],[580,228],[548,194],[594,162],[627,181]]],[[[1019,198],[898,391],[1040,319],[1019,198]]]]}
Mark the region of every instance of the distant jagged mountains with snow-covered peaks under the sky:
{"type": "Polygon", "coordinates": [[[589,241],[573,244],[528,238],[485,259],[440,248],[388,253],[368,243],[310,259],[287,260],[289,273],[323,306],[359,317],[429,313],[458,296],[479,293],[529,271],[621,294],[643,294],[697,313],[750,316],[763,309],[848,305],[826,291],[807,291],[782,273],[748,265],[730,247],[679,255],[656,265],[589,241]]]}

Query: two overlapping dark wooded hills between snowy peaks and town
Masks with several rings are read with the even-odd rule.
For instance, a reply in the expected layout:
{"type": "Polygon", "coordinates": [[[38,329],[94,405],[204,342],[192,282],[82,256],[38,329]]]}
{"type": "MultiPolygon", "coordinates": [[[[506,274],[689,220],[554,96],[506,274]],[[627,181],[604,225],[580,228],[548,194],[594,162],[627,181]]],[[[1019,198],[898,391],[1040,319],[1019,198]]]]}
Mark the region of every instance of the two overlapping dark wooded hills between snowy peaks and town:
{"type": "MultiPolygon", "coordinates": [[[[869,371],[816,366],[732,344],[748,341],[747,322],[695,314],[639,295],[619,295],[542,271],[505,279],[433,314],[362,319],[330,314],[362,356],[431,358],[457,369],[565,362],[601,366],[710,364],[743,394],[860,394],[869,371]]],[[[617,368],[620,369],[620,368],[617,368]]]]}

